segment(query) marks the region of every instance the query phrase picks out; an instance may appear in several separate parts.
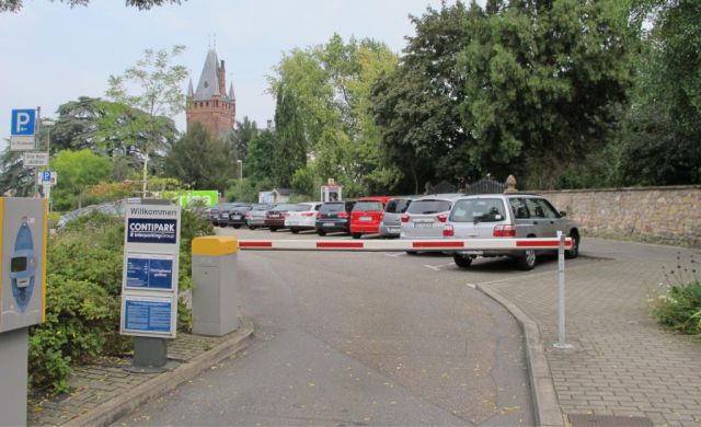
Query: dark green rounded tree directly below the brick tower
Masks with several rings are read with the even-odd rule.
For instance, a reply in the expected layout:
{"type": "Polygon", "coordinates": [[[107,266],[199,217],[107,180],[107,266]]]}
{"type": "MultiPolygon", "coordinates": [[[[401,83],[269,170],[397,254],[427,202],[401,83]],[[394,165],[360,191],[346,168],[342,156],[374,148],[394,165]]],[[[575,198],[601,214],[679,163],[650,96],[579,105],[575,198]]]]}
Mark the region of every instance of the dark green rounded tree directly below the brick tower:
{"type": "Polygon", "coordinates": [[[196,189],[223,192],[234,176],[235,158],[221,139],[212,138],[199,123],[193,124],[165,157],[165,174],[196,189]]]}

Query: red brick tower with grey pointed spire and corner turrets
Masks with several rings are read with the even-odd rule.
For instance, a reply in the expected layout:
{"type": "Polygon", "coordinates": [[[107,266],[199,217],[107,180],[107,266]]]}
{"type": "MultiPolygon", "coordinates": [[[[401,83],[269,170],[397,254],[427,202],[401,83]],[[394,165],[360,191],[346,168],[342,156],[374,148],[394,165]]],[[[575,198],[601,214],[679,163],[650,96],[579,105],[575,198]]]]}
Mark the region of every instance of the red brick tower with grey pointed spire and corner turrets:
{"type": "Polygon", "coordinates": [[[197,91],[193,92],[193,81],[187,88],[187,129],[197,122],[205,126],[212,137],[221,137],[233,129],[237,116],[237,97],[233,84],[227,94],[227,78],[223,60],[219,62],[217,53],[209,49],[199,76],[197,91]]]}

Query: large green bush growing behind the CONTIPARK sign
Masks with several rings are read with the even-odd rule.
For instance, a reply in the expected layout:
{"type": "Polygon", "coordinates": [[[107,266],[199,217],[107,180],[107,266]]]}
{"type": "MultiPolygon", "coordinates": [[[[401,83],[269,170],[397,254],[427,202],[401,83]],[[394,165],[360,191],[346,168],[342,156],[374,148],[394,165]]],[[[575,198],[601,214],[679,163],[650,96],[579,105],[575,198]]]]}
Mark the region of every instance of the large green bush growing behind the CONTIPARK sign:
{"type": "MultiPolygon", "coordinates": [[[[212,232],[206,220],[183,210],[180,289],[192,288],[192,239],[212,232]]],[[[46,322],[32,327],[30,337],[32,386],[67,392],[71,365],[129,350],[131,339],[119,335],[123,252],[124,219],[97,211],[49,238],[46,322]]],[[[191,311],[181,302],[179,330],[191,327],[191,311]]]]}

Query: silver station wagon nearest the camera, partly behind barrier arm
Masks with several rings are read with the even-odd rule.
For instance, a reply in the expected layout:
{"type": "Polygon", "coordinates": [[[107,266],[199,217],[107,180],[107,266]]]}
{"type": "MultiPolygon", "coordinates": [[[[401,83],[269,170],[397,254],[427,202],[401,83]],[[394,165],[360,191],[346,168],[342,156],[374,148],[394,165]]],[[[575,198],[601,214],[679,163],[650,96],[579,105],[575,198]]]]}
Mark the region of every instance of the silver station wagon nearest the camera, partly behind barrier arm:
{"type": "MultiPolygon", "coordinates": [[[[489,194],[457,199],[444,230],[448,239],[554,238],[558,231],[572,238],[565,256],[579,254],[579,226],[537,194],[489,194]]],[[[467,268],[476,256],[510,256],[521,269],[536,266],[536,251],[458,251],[453,259],[467,268]]]]}

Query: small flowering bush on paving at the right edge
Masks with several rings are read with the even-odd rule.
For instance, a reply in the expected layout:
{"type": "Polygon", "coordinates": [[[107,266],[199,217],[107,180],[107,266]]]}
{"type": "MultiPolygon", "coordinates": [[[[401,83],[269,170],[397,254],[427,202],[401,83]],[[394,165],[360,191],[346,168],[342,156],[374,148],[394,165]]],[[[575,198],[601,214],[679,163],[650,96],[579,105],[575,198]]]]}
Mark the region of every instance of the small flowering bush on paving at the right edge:
{"type": "Polygon", "coordinates": [[[665,272],[668,290],[657,298],[654,313],[657,321],[682,334],[701,337],[701,280],[697,275],[696,261],[682,266],[677,257],[677,267],[665,272]]]}

